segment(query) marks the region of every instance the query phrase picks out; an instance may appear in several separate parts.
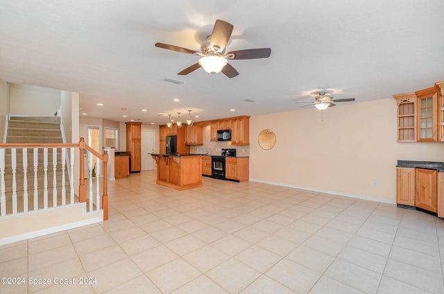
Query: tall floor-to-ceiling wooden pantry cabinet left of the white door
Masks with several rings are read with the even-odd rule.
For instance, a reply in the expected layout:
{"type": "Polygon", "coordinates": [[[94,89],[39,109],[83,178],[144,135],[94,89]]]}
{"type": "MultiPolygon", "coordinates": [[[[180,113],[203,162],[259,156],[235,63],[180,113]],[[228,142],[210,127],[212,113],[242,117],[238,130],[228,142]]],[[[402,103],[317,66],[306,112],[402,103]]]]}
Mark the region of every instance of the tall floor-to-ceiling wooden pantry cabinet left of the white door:
{"type": "Polygon", "coordinates": [[[142,168],[141,136],[142,123],[126,123],[126,152],[130,153],[130,173],[139,172],[142,168]]]}

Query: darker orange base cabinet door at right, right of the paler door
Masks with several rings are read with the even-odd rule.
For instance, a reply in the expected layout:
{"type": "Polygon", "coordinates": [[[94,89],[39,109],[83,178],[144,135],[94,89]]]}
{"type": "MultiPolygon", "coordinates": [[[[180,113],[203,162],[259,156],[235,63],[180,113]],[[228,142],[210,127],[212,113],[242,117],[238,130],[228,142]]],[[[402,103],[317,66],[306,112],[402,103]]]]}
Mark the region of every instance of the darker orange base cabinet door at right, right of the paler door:
{"type": "Polygon", "coordinates": [[[438,171],[415,168],[415,206],[437,212],[438,171]]]}

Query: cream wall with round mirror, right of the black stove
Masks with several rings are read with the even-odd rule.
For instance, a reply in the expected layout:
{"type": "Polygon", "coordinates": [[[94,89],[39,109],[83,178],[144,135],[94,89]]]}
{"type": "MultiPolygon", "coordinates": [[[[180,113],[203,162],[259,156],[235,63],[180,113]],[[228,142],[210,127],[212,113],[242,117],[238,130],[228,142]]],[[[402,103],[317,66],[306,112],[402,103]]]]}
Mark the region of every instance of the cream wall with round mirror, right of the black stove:
{"type": "Polygon", "coordinates": [[[250,180],[395,202],[398,159],[444,161],[444,144],[398,143],[396,116],[393,98],[252,116],[250,180]],[[271,150],[257,144],[266,128],[271,150]]]}

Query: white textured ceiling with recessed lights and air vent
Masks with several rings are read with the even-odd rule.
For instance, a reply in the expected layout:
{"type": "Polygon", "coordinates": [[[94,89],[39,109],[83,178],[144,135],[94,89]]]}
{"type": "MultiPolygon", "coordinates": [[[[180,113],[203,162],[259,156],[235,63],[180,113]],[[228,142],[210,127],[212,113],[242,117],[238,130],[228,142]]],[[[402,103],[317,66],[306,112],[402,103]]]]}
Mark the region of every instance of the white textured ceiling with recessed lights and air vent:
{"type": "Polygon", "coordinates": [[[0,8],[0,80],[78,92],[80,112],[114,121],[299,110],[294,102],[314,101],[309,93],[320,89],[359,103],[444,80],[443,0],[0,0],[0,8]],[[154,44],[198,51],[216,19],[234,25],[228,51],[270,47],[271,57],[230,60],[239,71],[231,79],[203,69],[178,76],[198,56],[154,44]]]}

